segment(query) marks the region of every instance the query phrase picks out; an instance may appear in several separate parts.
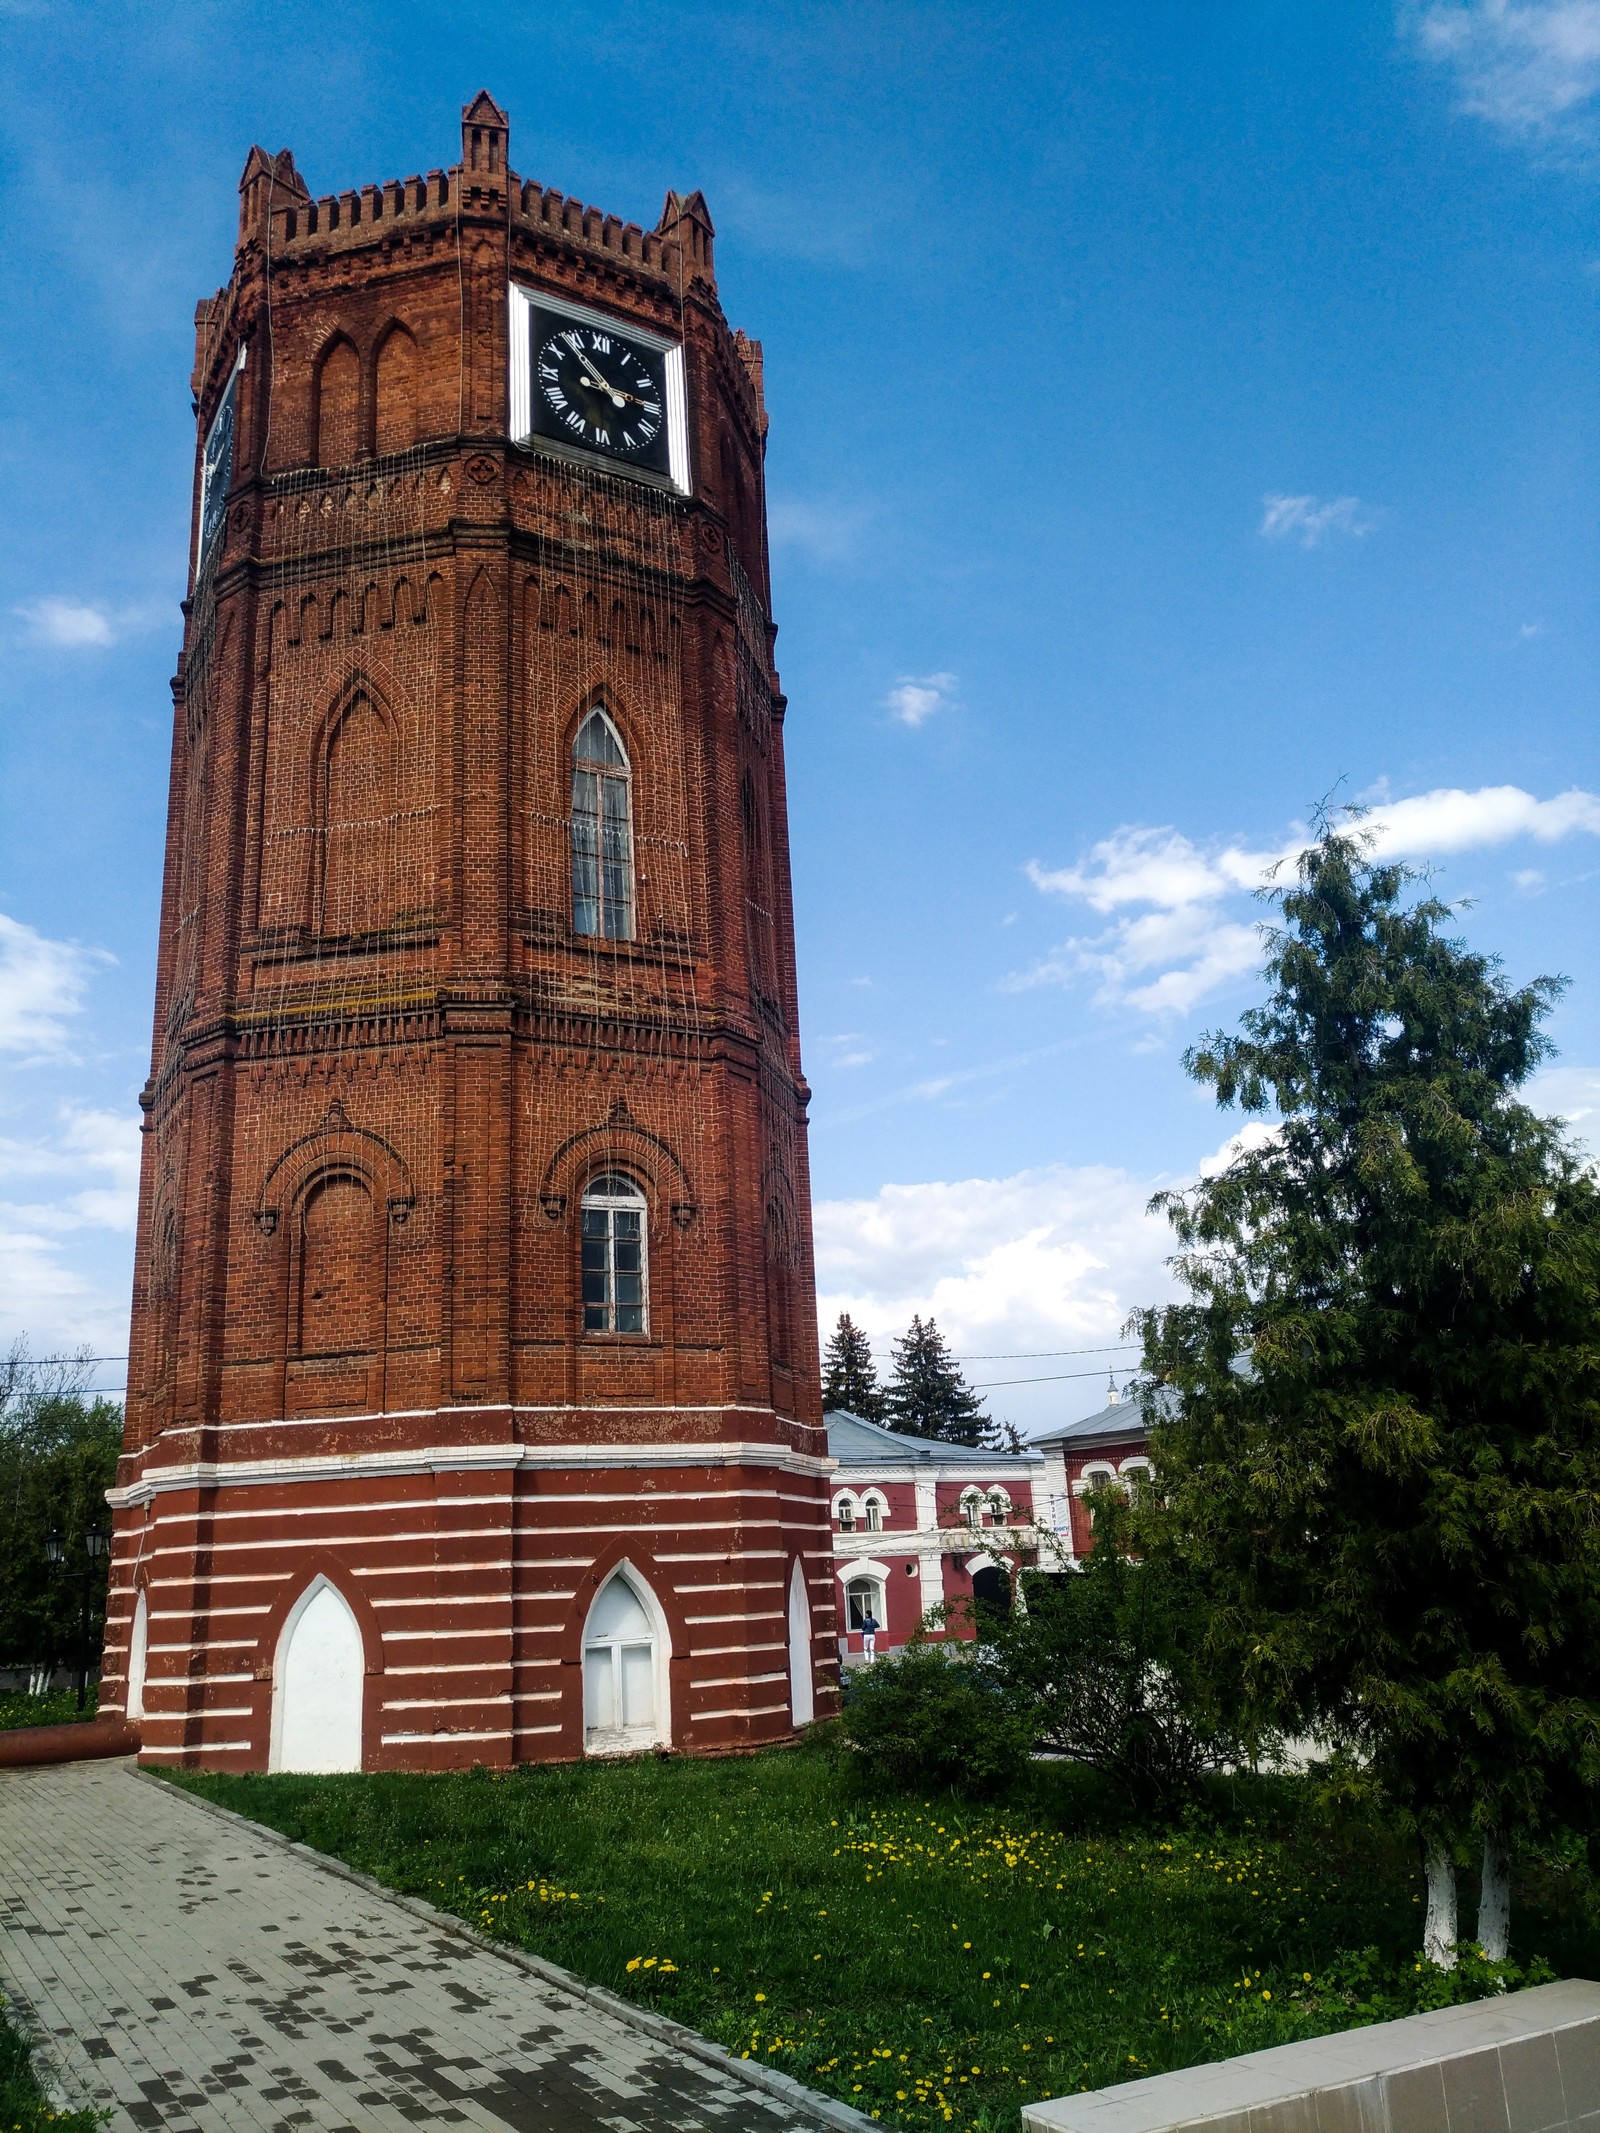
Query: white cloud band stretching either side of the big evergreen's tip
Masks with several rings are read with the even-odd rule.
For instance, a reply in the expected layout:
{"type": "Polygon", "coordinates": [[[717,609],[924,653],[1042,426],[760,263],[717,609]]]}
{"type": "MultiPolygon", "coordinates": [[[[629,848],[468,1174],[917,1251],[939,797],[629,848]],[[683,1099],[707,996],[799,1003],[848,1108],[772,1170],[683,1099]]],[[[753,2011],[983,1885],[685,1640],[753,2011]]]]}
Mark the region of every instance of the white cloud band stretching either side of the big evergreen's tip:
{"type": "MultiPolygon", "coordinates": [[[[1519,785],[1476,791],[1438,787],[1408,800],[1380,800],[1365,817],[1380,857],[1434,860],[1532,838],[1555,845],[1600,836],[1600,793],[1572,787],[1536,800],[1519,785]]],[[[1009,992],[1097,979],[1103,1005],[1154,1015],[1188,1013],[1199,1000],[1252,971],[1261,936],[1242,898],[1282,877],[1308,843],[1295,830],[1274,845],[1242,840],[1197,845],[1180,830],[1124,825],[1101,838],[1077,866],[1026,866],[1045,896],[1088,904],[1114,924],[1062,941],[1028,971],[1005,979],[1009,992]]],[[[1527,887],[1536,875],[1515,875],[1527,887]]]]}

